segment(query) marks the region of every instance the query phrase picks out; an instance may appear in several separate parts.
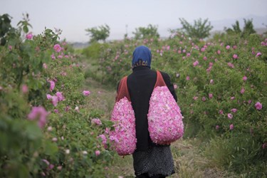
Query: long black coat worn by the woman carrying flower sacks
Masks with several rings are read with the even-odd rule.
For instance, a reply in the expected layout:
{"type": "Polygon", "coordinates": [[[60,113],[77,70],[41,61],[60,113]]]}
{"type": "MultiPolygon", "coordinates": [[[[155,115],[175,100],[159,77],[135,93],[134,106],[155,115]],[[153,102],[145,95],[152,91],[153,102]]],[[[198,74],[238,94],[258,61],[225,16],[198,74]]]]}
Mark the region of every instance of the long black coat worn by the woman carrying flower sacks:
{"type": "MultiPolygon", "coordinates": [[[[162,78],[169,91],[177,101],[177,95],[174,91],[169,75],[162,73],[162,78]]],[[[155,145],[150,139],[147,124],[147,113],[149,110],[150,96],[157,80],[157,72],[150,70],[147,66],[138,66],[133,69],[127,77],[127,87],[129,90],[132,108],[135,111],[135,128],[137,137],[137,151],[145,151],[148,147],[155,145]]]]}

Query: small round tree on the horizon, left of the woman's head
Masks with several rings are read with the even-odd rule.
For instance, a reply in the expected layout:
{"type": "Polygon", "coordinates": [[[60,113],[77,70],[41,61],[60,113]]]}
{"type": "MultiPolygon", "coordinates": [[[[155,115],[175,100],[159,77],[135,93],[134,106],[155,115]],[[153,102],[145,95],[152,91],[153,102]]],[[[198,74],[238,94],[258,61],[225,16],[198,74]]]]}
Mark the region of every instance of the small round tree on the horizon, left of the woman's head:
{"type": "Polygon", "coordinates": [[[90,36],[90,43],[101,40],[105,43],[105,40],[110,36],[110,27],[107,24],[105,26],[86,28],[85,31],[90,36]]]}

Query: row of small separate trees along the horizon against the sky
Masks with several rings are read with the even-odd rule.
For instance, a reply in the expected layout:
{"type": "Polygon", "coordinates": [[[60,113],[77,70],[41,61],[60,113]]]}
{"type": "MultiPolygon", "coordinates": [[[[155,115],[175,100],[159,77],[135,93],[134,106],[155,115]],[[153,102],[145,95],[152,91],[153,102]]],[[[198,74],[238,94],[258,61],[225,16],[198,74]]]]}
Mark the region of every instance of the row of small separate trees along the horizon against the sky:
{"type": "MultiPolygon", "coordinates": [[[[194,20],[194,24],[190,24],[187,20],[183,18],[179,18],[179,21],[182,24],[182,28],[169,29],[170,33],[182,32],[187,36],[190,36],[191,38],[203,39],[210,36],[210,32],[213,28],[209,19],[202,20],[200,18],[194,20]]],[[[132,33],[134,34],[135,39],[144,39],[150,37],[159,38],[157,28],[158,26],[153,26],[152,24],[149,24],[147,27],[135,28],[135,31],[132,33]]],[[[87,31],[88,35],[90,36],[90,43],[97,41],[103,41],[105,43],[106,39],[110,36],[110,27],[107,24],[105,24],[105,26],[102,25],[93,28],[86,28],[85,31],[87,31]]],[[[252,33],[256,33],[253,27],[253,19],[244,19],[243,30],[241,30],[239,21],[236,21],[236,23],[232,24],[231,28],[225,27],[224,31],[226,32],[226,34],[240,34],[241,37],[246,37],[252,33]]],[[[125,38],[127,38],[127,36],[128,35],[126,33],[125,38]]]]}

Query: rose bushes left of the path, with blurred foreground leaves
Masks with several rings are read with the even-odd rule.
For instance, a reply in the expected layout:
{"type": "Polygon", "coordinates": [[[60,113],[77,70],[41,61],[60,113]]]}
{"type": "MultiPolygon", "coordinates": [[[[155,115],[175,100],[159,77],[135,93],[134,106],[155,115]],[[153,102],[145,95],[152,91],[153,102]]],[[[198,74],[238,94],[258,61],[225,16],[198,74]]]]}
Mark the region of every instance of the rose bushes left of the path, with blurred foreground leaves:
{"type": "Polygon", "coordinates": [[[0,177],[105,177],[110,122],[88,110],[83,66],[61,31],[0,16],[0,177]]]}

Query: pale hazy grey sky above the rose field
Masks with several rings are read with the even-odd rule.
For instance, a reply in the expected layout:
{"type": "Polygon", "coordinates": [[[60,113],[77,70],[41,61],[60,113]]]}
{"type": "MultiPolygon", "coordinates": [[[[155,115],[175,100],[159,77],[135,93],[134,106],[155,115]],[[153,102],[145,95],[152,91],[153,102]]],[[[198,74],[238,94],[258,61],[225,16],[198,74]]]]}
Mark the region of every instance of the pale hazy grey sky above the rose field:
{"type": "Polygon", "coordinates": [[[12,16],[14,26],[28,13],[33,34],[45,26],[61,28],[61,38],[83,42],[89,40],[85,28],[105,23],[110,26],[108,39],[117,39],[123,38],[126,25],[129,36],[150,23],[166,34],[168,28],[180,27],[179,18],[218,21],[266,16],[266,9],[267,0],[0,0],[0,14],[12,16]]]}

